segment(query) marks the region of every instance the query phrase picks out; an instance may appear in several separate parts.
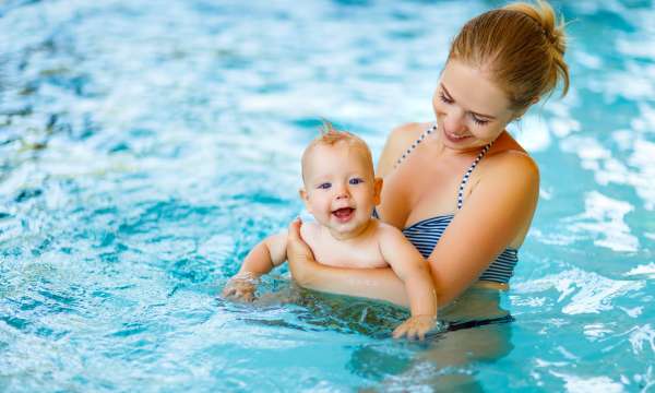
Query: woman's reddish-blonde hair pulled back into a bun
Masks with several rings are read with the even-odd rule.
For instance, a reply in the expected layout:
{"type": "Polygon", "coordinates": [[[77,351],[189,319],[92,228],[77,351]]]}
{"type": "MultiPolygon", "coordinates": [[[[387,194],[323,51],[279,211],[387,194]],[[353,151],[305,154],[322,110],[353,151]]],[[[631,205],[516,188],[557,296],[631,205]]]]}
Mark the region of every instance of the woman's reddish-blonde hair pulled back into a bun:
{"type": "Polygon", "coordinates": [[[546,1],[515,2],[468,21],[454,38],[448,60],[488,72],[508,95],[510,108],[523,111],[550,95],[558,82],[569,91],[563,22],[546,1]]]}

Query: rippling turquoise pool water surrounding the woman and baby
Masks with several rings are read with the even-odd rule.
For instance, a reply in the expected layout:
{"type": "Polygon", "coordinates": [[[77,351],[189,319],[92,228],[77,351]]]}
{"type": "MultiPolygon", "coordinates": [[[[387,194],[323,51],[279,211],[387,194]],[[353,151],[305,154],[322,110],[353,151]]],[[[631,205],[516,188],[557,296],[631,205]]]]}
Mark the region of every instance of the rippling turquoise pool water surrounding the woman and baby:
{"type": "Polygon", "coordinates": [[[394,342],[403,310],[284,269],[216,296],[301,210],[320,118],[377,155],[499,4],[1,2],[0,391],[655,390],[652,1],[555,2],[572,86],[512,131],[541,168],[513,323],[394,342]]]}

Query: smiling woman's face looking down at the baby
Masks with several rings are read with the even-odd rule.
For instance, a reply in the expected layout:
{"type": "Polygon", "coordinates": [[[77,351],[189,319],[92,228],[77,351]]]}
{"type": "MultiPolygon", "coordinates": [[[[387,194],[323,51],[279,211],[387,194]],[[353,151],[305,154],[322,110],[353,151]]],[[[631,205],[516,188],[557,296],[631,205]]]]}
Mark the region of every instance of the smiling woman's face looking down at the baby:
{"type": "Polygon", "coordinates": [[[515,117],[510,102],[479,69],[451,59],[432,98],[443,144],[475,150],[495,141],[515,117]]]}

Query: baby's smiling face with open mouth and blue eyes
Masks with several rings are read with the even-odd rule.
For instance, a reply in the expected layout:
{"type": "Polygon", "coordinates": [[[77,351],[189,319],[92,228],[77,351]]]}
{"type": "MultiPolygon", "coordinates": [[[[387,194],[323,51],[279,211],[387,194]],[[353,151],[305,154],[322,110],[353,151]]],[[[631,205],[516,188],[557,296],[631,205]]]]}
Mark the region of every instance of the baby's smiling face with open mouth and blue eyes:
{"type": "Polygon", "coordinates": [[[307,210],[337,239],[359,235],[380,203],[381,180],[373,177],[370,158],[346,142],[317,145],[303,163],[307,210]]]}

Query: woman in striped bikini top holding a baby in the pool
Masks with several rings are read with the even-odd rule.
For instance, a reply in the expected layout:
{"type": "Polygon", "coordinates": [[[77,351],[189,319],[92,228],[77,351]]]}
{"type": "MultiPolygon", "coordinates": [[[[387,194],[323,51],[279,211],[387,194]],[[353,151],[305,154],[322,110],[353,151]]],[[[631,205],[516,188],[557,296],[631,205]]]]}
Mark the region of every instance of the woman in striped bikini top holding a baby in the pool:
{"type": "MultiPolygon", "coordinates": [[[[452,43],[432,105],[437,121],[392,131],[377,168],[380,219],[403,229],[430,266],[440,308],[468,288],[508,289],[534,215],[539,174],[505,127],[562,82],[564,33],[545,2],[471,20],[452,43]]],[[[318,264],[289,227],[287,253],[303,287],[407,305],[391,269],[318,264]]],[[[490,311],[490,310],[488,310],[490,311]]]]}

